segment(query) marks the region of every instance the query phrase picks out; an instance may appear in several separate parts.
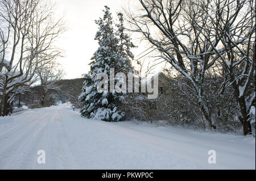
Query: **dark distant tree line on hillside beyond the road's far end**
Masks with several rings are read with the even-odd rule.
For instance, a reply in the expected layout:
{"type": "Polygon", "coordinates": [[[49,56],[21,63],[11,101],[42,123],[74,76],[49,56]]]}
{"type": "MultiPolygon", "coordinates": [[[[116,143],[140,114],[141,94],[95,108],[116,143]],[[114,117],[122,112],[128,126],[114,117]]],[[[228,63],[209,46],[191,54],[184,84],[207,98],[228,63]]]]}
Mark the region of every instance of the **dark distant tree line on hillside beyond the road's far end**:
{"type": "Polygon", "coordinates": [[[47,91],[45,91],[44,85],[27,87],[26,91],[15,96],[14,107],[22,107],[23,104],[28,108],[40,108],[70,102],[74,107],[81,108],[78,98],[83,82],[84,78],[60,79],[52,83],[47,91]]]}

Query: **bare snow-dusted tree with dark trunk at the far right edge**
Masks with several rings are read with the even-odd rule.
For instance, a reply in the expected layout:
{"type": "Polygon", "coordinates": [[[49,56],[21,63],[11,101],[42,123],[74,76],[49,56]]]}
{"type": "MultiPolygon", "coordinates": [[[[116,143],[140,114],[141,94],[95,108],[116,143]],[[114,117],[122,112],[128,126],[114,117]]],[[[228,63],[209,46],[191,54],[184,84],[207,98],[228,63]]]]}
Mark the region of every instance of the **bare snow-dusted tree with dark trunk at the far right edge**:
{"type": "MultiPolygon", "coordinates": [[[[223,4],[214,3],[216,6],[223,4]]],[[[229,77],[226,87],[233,88],[243,133],[251,134],[250,109],[255,107],[255,1],[235,1],[216,13],[213,22],[214,32],[225,52],[214,48],[229,77]]]]}

